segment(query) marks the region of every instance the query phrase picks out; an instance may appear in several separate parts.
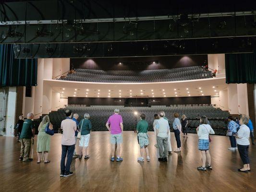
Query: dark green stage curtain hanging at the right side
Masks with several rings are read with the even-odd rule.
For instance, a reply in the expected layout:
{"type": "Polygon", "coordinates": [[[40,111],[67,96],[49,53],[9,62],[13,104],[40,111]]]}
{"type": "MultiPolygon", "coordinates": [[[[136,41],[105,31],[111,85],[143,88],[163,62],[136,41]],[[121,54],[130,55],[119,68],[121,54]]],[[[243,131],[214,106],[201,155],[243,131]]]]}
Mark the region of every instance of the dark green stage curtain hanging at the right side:
{"type": "Polygon", "coordinates": [[[227,84],[256,83],[256,52],[225,54],[227,84]]]}

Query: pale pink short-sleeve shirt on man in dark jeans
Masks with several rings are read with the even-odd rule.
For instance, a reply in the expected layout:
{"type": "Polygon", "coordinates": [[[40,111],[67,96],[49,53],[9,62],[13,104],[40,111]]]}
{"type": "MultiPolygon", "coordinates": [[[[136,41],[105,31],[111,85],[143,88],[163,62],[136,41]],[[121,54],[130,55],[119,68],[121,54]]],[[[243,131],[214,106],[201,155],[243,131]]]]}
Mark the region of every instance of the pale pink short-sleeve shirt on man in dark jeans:
{"type": "Polygon", "coordinates": [[[76,123],[70,118],[61,121],[61,129],[63,130],[61,144],[73,145],[75,144],[74,132],[76,131],[76,123]]]}

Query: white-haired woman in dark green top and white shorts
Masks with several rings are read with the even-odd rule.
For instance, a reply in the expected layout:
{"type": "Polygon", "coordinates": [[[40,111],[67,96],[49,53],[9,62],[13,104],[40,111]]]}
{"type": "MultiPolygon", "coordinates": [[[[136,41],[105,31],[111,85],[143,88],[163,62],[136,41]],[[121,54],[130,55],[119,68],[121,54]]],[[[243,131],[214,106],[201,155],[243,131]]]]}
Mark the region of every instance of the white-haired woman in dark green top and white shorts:
{"type": "Polygon", "coordinates": [[[90,157],[89,155],[87,155],[87,148],[88,148],[88,144],[91,136],[90,133],[92,130],[92,124],[91,124],[91,121],[89,120],[90,115],[88,113],[85,113],[84,118],[85,119],[80,120],[80,123],[78,125],[81,132],[81,139],[79,141],[79,147],[80,147],[79,158],[80,159],[83,156],[83,147],[85,147],[85,159],[90,157]]]}

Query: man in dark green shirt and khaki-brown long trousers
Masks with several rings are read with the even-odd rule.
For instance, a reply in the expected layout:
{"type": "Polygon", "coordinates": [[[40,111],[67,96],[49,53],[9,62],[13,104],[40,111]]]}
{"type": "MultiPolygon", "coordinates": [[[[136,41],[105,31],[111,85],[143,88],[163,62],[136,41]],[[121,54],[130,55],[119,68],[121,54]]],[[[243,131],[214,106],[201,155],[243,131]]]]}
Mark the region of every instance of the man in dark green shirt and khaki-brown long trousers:
{"type": "Polygon", "coordinates": [[[34,119],[33,113],[27,114],[27,119],[23,123],[22,132],[20,135],[21,139],[21,156],[20,161],[32,161],[33,159],[29,158],[30,148],[31,148],[31,138],[35,134],[35,125],[32,121],[34,119]]]}

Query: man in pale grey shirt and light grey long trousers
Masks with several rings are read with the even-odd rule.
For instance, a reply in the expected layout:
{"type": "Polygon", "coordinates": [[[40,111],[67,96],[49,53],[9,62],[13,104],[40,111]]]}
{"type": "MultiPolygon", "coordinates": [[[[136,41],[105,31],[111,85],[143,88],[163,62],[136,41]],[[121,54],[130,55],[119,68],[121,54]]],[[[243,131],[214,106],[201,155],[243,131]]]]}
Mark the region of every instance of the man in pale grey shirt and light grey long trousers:
{"type": "Polygon", "coordinates": [[[164,112],[161,111],[159,112],[159,117],[160,119],[157,121],[155,129],[157,132],[157,144],[158,146],[163,146],[158,147],[159,150],[159,161],[167,161],[167,154],[168,154],[168,134],[170,131],[170,126],[168,123],[168,120],[165,120],[164,117],[164,112]],[[164,151],[163,151],[164,149],[164,151]]]}

